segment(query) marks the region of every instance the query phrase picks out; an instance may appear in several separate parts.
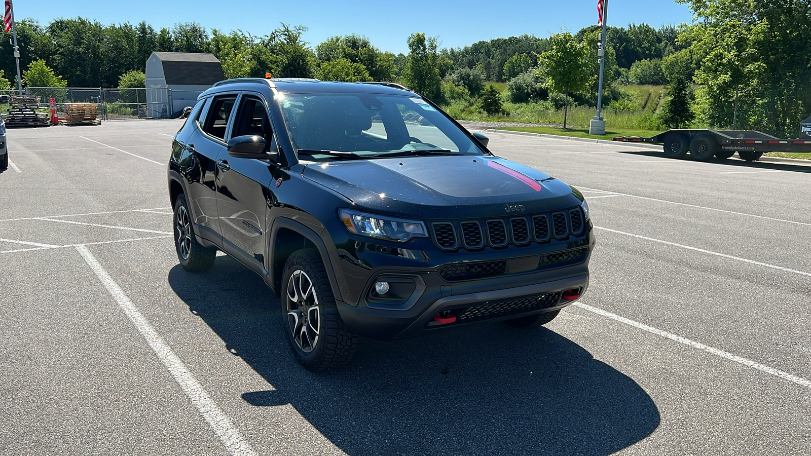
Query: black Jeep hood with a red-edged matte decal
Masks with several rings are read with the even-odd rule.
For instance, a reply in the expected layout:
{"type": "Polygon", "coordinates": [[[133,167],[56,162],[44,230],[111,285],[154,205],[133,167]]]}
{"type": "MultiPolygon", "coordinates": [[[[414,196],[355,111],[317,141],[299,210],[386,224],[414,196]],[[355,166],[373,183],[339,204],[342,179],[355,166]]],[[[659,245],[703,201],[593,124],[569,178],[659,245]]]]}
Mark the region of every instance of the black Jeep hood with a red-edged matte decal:
{"type": "Polygon", "coordinates": [[[337,191],[358,209],[400,217],[539,213],[574,207],[583,199],[579,191],[548,174],[497,157],[337,161],[308,164],[303,176],[337,191]]]}

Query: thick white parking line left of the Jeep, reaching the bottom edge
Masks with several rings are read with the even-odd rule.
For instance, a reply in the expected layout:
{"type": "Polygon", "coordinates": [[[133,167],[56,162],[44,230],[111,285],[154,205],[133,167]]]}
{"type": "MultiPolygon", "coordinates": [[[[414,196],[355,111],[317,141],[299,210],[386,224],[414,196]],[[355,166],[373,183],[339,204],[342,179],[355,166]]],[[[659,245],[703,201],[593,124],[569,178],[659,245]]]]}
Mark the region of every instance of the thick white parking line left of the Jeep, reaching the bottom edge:
{"type": "Polygon", "coordinates": [[[105,286],[109,294],[118,303],[125,315],[131,320],[138,332],[146,340],[149,348],[155,352],[158,359],[165,366],[166,370],[174,377],[174,381],[178,382],[183,393],[191,400],[191,403],[203,415],[203,418],[211,426],[212,431],[220,437],[220,441],[225,445],[225,449],[230,454],[240,456],[252,456],[256,452],[251,445],[242,437],[242,432],[234,425],[234,422],[225,415],[225,412],[217,406],[211,396],[208,395],[200,381],[197,381],[195,376],[189,372],[189,369],[174,354],[172,348],[161,337],[161,334],[149,323],[149,320],[142,314],[135,304],[124,294],[124,291],[118,286],[110,277],[109,273],[101,266],[95,256],[88,250],[88,247],[77,246],[76,250],[84,258],[84,262],[90,266],[96,277],[99,278],[101,284],[105,286]]]}

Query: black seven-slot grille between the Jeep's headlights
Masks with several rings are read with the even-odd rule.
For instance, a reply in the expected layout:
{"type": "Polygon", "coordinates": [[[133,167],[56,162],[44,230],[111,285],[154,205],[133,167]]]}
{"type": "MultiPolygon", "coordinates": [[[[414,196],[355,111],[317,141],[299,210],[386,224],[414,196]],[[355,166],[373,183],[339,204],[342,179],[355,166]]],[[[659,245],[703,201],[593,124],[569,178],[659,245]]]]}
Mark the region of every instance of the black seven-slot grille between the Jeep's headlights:
{"type": "Polygon", "coordinates": [[[434,242],[442,250],[476,249],[485,246],[504,247],[508,244],[526,245],[532,241],[544,243],[550,239],[568,239],[586,231],[582,209],[573,208],[555,213],[520,217],[504,217],[484,221],[433,222],[434,242]]]}

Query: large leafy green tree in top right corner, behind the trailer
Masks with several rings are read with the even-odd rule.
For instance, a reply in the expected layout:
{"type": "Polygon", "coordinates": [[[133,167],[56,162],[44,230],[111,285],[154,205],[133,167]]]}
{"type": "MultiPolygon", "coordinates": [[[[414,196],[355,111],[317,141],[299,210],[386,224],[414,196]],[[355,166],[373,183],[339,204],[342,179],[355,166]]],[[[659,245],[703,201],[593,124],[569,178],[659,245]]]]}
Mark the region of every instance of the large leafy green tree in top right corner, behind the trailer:
{"type": "Polygon", "coordinates": [[[703,123],[795,136],[811,112],[811,4],[799,0],[679,0],[697,24],[682,32],[701,62],[703,123]]]}

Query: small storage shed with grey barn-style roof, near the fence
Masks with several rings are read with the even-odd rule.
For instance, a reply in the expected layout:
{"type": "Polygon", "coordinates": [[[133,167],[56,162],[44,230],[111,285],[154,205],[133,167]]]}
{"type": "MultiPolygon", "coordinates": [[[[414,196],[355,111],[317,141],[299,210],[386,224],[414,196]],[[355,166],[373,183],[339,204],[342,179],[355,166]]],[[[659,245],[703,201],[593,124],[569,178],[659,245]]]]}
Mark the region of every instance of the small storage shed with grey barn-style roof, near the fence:
{"type": "Polygon", "coordinates": [[[213,54],[153,52],[147,59],[147,112],[150,118],[174,118],[197,96],[224,80],[213,54]]]}

